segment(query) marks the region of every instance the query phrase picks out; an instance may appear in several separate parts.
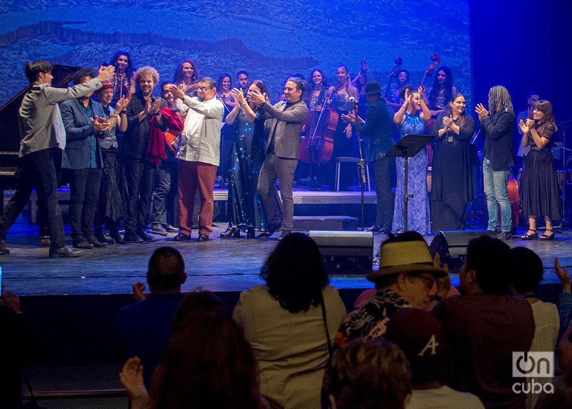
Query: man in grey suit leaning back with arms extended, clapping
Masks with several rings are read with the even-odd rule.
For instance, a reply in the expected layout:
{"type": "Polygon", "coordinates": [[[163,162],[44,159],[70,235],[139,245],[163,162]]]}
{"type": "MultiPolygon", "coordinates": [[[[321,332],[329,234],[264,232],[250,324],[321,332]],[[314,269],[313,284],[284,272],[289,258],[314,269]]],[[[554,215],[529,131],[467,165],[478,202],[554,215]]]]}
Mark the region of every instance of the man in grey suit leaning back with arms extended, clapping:
{"type": "Polygon", "coordinates": [[[308,116],[308,108],[301,99],[305,89],[304,81],[291,78],[284,86],[286,101],[278,102],[274,106],[270,105],[260,92],[248,93],[249,100],[255,102],[269,117],[264,124],[265,130],[268,130],[266,158],[260,169],[257,186],[269,224],[268,231],[260,233],[259,237],[263,239],[272,236],[279,229],[282,229],[282,234],[278,240],[292,232],[292,181],[298,165],[300,133],[308,116]],[[280,184],[282,221],[273,196],[276,179],[280,184]]]}

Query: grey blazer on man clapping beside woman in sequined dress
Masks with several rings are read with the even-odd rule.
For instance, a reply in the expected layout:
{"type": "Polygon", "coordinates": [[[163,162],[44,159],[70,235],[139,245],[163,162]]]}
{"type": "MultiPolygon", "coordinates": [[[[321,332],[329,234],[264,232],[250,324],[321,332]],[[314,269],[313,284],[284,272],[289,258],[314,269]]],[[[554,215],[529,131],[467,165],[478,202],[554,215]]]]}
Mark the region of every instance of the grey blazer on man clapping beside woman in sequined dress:
{"type": "Polygon", "coordinates": [[[264,123],[265,130],[268,130],[268,140],[266,142],[267,151],[270,145],[272,133],[275,133],[274,150],[276,156],[281,158],[297,159],[298,148],[300,146],[300,134],[302,126],[306,122],[308,116],[308,108],[303,100],[294,102],[288,108],[285,108],[286,102],[281,101],[272,106],[268,102],[260,107],[269,118],[264,123]],[[275,131],[276,130],[276,131],[275,131]]]}

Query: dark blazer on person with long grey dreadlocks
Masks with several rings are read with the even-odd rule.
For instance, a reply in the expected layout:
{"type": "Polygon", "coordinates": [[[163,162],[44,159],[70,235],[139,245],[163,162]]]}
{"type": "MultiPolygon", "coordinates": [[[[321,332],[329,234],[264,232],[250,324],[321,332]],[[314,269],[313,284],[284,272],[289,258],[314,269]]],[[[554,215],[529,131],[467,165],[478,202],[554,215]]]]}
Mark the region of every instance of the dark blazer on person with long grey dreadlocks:
{"type": "Polygon", "coordinates": [[[514,111],[506,108],[479,121],[479,129],[484,135],[484,157],[491,162],[495,172],[514,165],[514,128],[514,111]]]}

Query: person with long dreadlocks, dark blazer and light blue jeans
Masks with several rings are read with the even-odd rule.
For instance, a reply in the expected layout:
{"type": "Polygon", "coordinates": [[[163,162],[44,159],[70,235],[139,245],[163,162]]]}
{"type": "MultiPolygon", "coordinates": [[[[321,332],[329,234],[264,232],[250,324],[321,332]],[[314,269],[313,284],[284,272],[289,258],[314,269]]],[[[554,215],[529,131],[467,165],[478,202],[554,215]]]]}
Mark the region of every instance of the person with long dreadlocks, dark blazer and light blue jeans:
{"type": "Polygon", "coordinates": [[[488,92],[488,109],[477,104],[479,129],[484,135],[483,182],[487,196],[488,230],[499,229],[501,207],[501,231],[499,239],[510,240],[511,208],[509,202],[509,168],[514,165],[513,134],[515,116],[510,94],[503,86],[494,86],[488,92]]]}

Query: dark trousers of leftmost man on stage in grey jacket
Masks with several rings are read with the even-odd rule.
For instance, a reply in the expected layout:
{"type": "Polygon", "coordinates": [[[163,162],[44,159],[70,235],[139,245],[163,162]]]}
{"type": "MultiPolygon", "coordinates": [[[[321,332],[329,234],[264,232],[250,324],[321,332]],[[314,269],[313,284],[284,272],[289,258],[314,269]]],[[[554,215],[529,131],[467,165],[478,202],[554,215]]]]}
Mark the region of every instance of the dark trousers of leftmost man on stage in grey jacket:
{"type": "Polygon", "coordinates": [[[19,158],[17,175],[18,189],[0,216],[0,239],[6,239],[8,229],[14,224],[30,200],[32,188],[35,188],[39,203],[45,203],[45,213],[43,214],[50,232],[50,245],[53,248],[63,247],[65,243],[63,241],[62,212],[58,204],[58,183],[51,148],[38,150],[19,158]]]}

